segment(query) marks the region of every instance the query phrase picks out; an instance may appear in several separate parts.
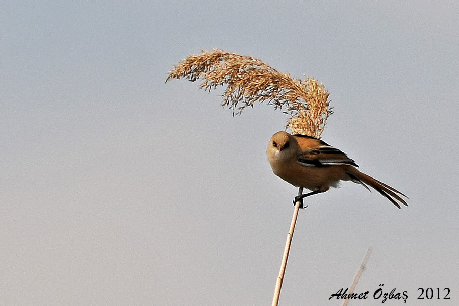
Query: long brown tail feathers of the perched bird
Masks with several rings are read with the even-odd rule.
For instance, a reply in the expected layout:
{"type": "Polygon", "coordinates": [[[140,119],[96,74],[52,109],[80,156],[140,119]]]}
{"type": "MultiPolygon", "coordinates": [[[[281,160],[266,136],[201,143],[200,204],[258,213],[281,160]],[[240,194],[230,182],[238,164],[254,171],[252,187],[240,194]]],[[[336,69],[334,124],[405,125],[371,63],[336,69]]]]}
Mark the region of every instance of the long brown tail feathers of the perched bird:
{"type": "Polygon", "coordinates": [[[398,191],[397,189],[387,184],[384,184],[376,179],[373,179],[373,177],[371,177],[370,175],[362,173],[354,167],[349,167],[347,170],[347,174],[353,182],[362,184],[368,190],[369,188],[366,185],[369,185],[374,190],[382,194],[382,196],[391,201],[393,205],[395,205],[396,207],[400,208],[400,205],[397,201],[402,203],[404,206],[408,206],[408,203],[406,203],[406,201],[403,198],[401,198],[400,195],[404,196],[405,198],[408,197],[400,191],[398,191]]]}

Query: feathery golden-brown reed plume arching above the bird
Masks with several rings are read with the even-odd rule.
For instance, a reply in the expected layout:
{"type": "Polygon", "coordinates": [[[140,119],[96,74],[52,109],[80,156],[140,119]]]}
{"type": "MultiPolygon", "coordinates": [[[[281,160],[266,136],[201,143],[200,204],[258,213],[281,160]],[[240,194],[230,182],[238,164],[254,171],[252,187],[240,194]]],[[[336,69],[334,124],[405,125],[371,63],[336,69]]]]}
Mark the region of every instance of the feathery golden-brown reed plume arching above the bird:
{"type": "Polygon", "coordinates": [[[180,78],[193,82],[201,79],[199,88],[209,91],[227,85],[222,106],[231,109],[233,115],[266,101],[291,116],[286,127],[295,134],[319,138],[332,113],[327,101],[329,93],[317,80],[292,78],[251,56],[219,49],[202,51],[181,61],[169,72],[166,82],[180,78]]]}

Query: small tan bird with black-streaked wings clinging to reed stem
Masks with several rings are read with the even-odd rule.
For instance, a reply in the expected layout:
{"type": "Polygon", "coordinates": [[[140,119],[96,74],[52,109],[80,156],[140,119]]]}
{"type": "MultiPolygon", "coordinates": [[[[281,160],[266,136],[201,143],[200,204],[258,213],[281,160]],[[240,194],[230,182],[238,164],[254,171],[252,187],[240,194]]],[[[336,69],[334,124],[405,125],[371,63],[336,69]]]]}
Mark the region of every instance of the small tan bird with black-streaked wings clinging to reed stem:
{"type": "Polygon", "coordinates": [[[359,166],[344,152],[315,137],[277,132],[271,137],[266,153],[275,175],[294,186],[311,190],[295,197],[294,203],[300,201],[301,208],[304,197],[337,187],[339,181],[359,183],[370,190],[369,185],[396,207],[400,208],[398,202],[408,206],[401,198],[407,198],[406,195],[360,172],[356,168],[359,166]]]}

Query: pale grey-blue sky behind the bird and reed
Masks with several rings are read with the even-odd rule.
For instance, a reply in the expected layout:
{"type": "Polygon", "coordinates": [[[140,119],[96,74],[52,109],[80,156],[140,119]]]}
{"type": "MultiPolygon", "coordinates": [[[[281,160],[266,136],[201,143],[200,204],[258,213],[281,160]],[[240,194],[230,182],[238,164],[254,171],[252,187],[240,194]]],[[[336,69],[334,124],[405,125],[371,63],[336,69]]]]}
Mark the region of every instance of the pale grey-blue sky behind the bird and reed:
{"type": "Polygon", "coordinates": [[[307,200],[281,305],[339,305],[370,246],[349,305],[379,284],[459,303],[457,2],[64,3],[0,4],[0,304],[271,303],[297,189],[265,150],[287,116],[164,83],[214,47],[325,84],[322,139],[410,197],[307,200]]]}

